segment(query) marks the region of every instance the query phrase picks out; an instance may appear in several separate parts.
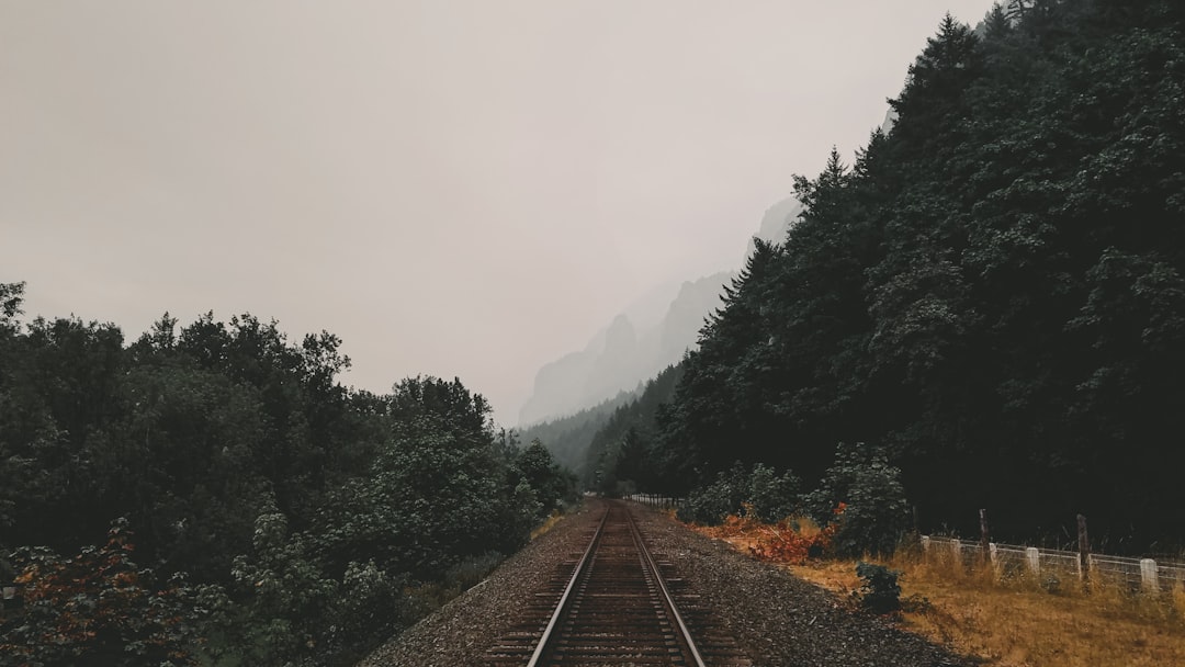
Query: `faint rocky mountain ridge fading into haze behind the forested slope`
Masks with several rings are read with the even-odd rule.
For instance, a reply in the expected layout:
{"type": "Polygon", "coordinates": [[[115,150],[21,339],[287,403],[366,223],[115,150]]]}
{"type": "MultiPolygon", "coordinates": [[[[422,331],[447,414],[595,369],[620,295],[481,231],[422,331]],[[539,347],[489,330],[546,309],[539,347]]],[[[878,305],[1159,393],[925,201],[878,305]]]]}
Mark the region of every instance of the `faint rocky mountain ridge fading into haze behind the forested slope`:
{"type": "MultiPolygon", "coordinates": [[[[783,199],[762,216],[756,238],[781,243],[802,211],[795,199],[783,199]]],[[[749,242],[747,256],[752,251],[749,242]]],[[[742,265],[743,262],[737,262],[742,265]]],[[[645,303],[621,313],[597,332],[584,349],[571,352],[544,365],[536,373],[534,390],[519,411],[519,427],[544,419],[574,415],[613,398],[622,391],[634,391],[662,368],[678,363],[694,347],[704,319],[719,304],[723,288],[735,271],[720,271],[693,281],[684,281],[673,297],[670,286],[656,288],[645,303]],[[651,308],[666,310],[656,325],[651,308]]]]}

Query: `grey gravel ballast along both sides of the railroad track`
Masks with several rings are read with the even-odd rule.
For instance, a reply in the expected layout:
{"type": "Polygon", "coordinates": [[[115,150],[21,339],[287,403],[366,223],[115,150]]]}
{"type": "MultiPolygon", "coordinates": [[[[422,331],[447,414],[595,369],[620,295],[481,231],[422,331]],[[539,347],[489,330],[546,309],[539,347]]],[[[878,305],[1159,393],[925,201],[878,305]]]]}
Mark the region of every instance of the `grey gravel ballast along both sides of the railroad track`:
{"type": "MultiPolygon", "coordinates": [[[[679,575],[736,637],[755,666],[953,667],[975,662],[889,622],[852,611],[833,594],[774,565],[706,538],[666,514],[634,506],[647,545],[679,575]]],[[[502,563],[481,584],[393,637],[359,667],[481,665],[557,564],[587,546],[601,501],[577,513],[502,563]]]]}

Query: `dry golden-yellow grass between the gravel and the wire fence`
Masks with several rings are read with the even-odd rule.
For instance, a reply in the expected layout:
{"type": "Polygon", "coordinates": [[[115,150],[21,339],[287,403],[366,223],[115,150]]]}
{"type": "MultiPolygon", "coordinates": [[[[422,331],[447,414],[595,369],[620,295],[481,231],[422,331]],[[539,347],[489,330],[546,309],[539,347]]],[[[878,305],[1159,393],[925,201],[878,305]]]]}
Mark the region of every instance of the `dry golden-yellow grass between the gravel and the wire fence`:
{"type": "MultiPolygon", "coordinates": [[[[902,626],[999,667],[1185,666],[1185,592],[1145,597],[1096,583],[1087,595],[1074,575],[1048,592],[1031,577],[997,577],[916,556],[884,563],[903,572],[903,599],[928,604],[902,614],[902,626]]],[[[860,585],[854,562],[790,566],[841,595],[860,585]]]]}

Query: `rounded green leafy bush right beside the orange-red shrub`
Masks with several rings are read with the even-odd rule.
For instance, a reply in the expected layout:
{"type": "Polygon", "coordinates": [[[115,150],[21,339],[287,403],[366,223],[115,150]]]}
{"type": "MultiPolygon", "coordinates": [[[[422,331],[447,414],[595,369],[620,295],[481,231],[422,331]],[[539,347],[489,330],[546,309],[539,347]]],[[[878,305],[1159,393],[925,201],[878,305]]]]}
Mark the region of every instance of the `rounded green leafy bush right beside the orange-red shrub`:
{"type": "Polygon", "coordinates": [[[909,506],[901,470],[883,449],[840,443],[835,462],[819,487],[803,498],[807,514],[820,526],[843,506],[833,547],[840,556],[891,554],[909,528],[909,506]]]}

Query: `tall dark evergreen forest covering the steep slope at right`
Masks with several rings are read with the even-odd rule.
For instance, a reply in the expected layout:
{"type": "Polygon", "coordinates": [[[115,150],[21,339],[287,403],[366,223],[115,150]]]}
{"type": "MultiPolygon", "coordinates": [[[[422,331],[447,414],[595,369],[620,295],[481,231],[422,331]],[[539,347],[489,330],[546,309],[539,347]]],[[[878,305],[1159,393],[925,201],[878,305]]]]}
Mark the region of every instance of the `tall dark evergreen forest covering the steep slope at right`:
{"type": "Polygon", "coordinates": [[[998,535],[1056,539],[1081,512],[1104,549],[1181,546],[1183,14],[948,15],[891,130],[794,179],[805,212],[757,244],[673,399],[620,447],[642,486],[888,466],[923,530],[978,532],[982,507],[998,535]]]}

